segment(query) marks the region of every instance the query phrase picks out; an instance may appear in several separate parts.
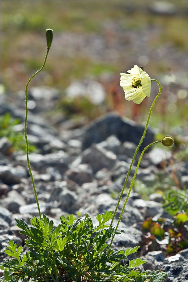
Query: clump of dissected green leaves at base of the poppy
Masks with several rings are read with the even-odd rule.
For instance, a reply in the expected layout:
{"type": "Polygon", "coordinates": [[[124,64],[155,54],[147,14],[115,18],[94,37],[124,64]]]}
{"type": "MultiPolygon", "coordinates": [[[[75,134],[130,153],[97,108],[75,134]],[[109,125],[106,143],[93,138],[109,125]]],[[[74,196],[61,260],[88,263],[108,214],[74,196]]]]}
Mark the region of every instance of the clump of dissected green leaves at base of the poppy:
{"type": "Polygon", "coordinates": [[[1,264],[2,281],[164,281],[164,272],[139,270],[146,262],[143,259],[121,263],[139,246],[116,252],[109,248],[107,241],[123,231],[115,233],[114,227],[106,224],[112,216],[112,212],[97,214],[95,227],[87,214],[77,220],[72,214],[68,220],[61,216],[56,228],[44,214],[41,219],[33,217],[31,227],[15,219],[20,233],[28,237],[28,251],[22,254],[22,246],[16,250],[17,244],[9,242],[5,253],[14,258],[1,264]]]}

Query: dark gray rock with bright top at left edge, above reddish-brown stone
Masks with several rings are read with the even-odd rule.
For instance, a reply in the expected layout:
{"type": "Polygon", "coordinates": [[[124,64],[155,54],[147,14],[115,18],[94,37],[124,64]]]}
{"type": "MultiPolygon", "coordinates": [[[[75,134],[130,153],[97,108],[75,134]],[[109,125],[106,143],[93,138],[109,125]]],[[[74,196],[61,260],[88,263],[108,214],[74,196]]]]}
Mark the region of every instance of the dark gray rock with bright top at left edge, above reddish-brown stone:
{"type": "Polygon", "coordinates": [[[21,182],[21,178],[28,177],[28,172],[23,167],[12,167],[10,165],[1,165],[1,179],[7,184],[18,184],[21,182]]]}

